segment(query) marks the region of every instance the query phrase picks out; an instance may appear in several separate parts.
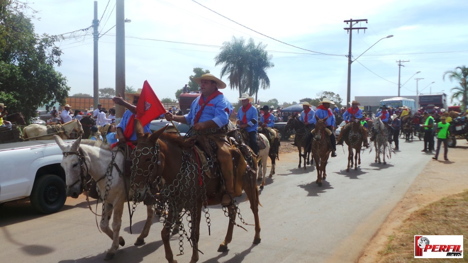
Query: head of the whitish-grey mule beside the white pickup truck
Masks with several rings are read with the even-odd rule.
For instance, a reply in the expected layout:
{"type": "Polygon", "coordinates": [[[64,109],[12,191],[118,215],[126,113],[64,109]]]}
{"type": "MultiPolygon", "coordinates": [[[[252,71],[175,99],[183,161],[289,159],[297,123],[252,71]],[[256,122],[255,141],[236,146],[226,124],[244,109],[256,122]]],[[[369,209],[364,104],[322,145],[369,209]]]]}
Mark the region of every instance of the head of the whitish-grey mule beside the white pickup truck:
{"type": "Polygon", "coordinates": [[[72,145],[65,145],[58,135],[54,135],[54,139],[63,154],[60,165],[65,171],[67,196],[78,198],[86,183],[84,180],[86,173],[83,166],[85,165],[85,159],[78,150],[81,136],[72,145]]]}

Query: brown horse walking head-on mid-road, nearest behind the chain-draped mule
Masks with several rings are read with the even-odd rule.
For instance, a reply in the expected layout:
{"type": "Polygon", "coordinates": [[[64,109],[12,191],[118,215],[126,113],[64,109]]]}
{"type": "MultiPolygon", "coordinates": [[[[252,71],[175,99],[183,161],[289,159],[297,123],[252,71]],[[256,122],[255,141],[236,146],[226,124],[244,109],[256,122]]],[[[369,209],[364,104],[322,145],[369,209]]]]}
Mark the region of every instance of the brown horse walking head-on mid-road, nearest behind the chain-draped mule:
{"type": "MultiPolygon", "coordinates": [[[[319,119],[315,115],[317,123],[315,124],[314,132],[312,133],[312,156],[315,160],[315,167],[317,168],[317,181],[315,181],[318,186],[322,186],[322,180],[327,178],[327,162],[330,157],[331,152],[331,142],[330,135],[327,133],[325,122],[328,119],[328,116],[319,119]]],[[[362,142],[361,142],[362,144],[362,142]]]]}

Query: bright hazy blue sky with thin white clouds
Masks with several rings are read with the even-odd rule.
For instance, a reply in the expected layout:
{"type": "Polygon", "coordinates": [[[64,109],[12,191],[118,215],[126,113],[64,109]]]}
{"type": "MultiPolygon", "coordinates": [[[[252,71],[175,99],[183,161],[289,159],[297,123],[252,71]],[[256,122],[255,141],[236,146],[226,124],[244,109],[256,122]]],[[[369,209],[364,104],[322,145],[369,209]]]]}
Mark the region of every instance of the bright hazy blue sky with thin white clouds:
{"type": "MultiPolygon", "coordinates": [[[[160,99],[175,99],[194,67],[219,76],[221,66],[214,61],[219,47],[232,37],[243,37],[267,44],[273,55],[275,66],[268,71],[271,87],[259,92],[262,101],[297,102],[320,91],[334,92],[345,101],[349,35],[343,28],[349,25],[343,21],[349,19],[368,19],[367,24],[354,25],[368,29],[353,30],[353,59],[379,39],[394,36],[382,39],[352,63],[351,99],[396,96],[397,60],[409,60],[401,67],[401,83],[406,82],[402,96],[416,95],[414,78],[424,78],[418,82],[422,93],[450,95],[456,83],[443,80],[443,73],[468,64],[466,0],[195,1],[125,1],[125,18],[132,20],[125,23],[128,86],[141,88],[148,80],[160,99]]],[[[115,88],[115,4],[116,0],[98,0],[99,88],[115,88]]],[[[39,11],[40,19],[33,20],[38,34],[59,35],[92,24],[93,0],[36,0],[30,5],[39,11]]],[[[92,30],[76,35],[59,43],[63,63],[57,70],[67,77],[71,95],[93,94],[92,30]]],[[[222,79],[227,82],[227,77],[222,79]]],[[[222,92],[230,101],[238,97],[229,87],[222,92]]]]}

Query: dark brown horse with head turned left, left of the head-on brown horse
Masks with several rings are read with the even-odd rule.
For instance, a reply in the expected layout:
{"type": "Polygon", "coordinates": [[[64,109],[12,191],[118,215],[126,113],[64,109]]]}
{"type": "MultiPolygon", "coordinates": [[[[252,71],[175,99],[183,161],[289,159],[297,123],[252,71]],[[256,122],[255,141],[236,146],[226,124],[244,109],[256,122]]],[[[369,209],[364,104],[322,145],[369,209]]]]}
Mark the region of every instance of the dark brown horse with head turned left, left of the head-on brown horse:
{"type": "MultiPolygon", "coordinates": [[[[309,158],[310,158],[310,136],[311,133],[306,128],[306,125],[297,119],[297,117],[291,117],[286,126],[284,127],[285,130],[293,129],[296,133],[294,136],[294,145],[297,147],[299,151],[299,166],[297,168],[301,168],[302,159],[304,158],[304,170],[306,169],[306,158],[307,158],[307,165],[309,165],[309,158]],[[304,148],[304,154],[302,154],[302,148],[304,148]]],[[[311,163],[312,165],[312,163],[311,163]]]]}

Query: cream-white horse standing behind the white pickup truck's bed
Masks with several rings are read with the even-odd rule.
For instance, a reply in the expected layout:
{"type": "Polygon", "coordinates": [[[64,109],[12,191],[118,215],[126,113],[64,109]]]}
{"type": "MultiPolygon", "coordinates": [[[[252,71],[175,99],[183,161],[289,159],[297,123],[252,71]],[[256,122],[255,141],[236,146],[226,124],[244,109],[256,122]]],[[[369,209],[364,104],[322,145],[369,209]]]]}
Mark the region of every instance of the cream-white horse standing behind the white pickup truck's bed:
{"type": "Polygon", "coordinates": [[[83,127],[78,120],[71,120],[64,124],[56,124],[50,126],[44,126],[40,124],[31,124],[26,126],[23,129],[23,139],[33,138],[32,140],[52,140],[54,139],[54,134],[58,133],[62,139],[69,139],[70,133],[73,131],[78,132],[78,136],[83,134],[83,127]],[[51,134],[50,136],[46,136],[47,134],[51,134]],[[35,138],[38,137],[39,138],[35,138]]]}

